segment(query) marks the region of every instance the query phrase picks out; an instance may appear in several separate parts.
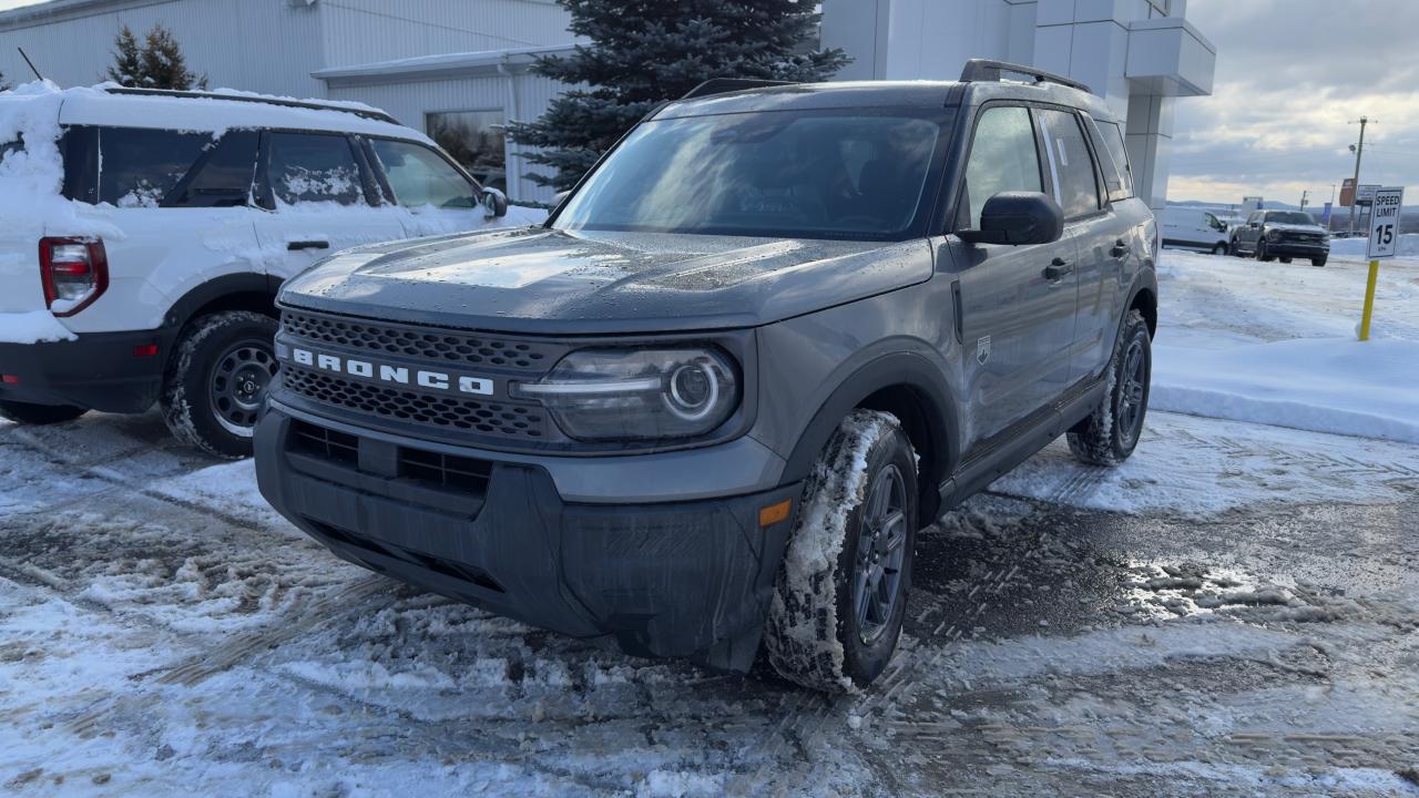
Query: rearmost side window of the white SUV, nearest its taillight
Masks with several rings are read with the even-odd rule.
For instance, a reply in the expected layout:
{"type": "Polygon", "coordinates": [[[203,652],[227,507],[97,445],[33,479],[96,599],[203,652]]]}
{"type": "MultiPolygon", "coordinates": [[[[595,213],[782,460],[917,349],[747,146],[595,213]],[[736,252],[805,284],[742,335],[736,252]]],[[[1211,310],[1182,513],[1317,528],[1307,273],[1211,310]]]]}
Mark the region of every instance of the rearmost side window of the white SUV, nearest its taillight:
{"type": "Polygon", "coordinates": [[[98,202],[118,207],[159,207],[187,175],[210,133],[101,128],[98,202]]]}

